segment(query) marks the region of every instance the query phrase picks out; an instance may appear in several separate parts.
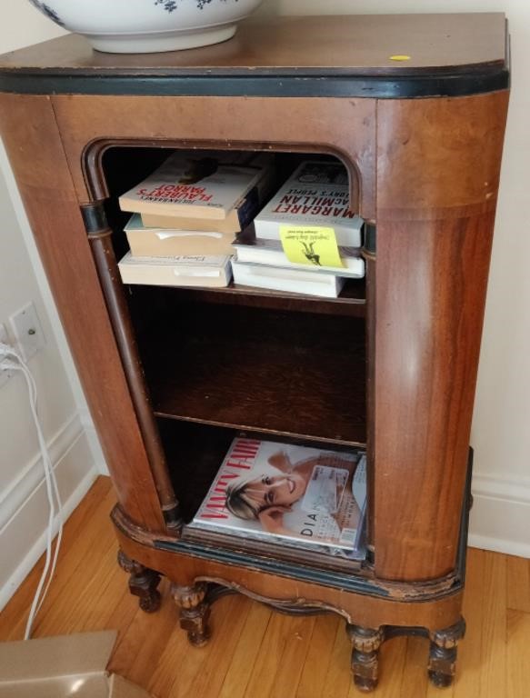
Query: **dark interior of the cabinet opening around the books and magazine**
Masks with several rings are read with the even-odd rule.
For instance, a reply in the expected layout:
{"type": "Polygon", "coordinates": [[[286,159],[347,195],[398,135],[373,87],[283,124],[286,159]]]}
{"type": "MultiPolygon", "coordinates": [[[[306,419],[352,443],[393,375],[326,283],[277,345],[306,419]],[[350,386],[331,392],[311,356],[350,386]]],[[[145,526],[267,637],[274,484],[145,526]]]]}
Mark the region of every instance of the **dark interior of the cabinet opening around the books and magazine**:
{"type": "MultiPolygon", "coordinates": [[[[128,251],[130,214],[118,197],[173,152],[112,147],[103,156],[110,197],[105,213],[119,260],[128,251]]],[[[275,154],[278,181],[306,159],[329,155],[275,154]]],[[[169,478],[185,523],[204,501],[234,438],[245,434],[278,444],[359,452],[367,441],[365,280],[348,279],[337,298],[226,288],[124,284],[139,365],[127,359],[135,400],[155,419],[162,453],[156,472],[169,478]],[[165,461],[165,464],[164,464],[165,461]],[[165,468],[166,465],[166,468],[165,468]],[[166,473],[167,470],[167,473],[166,473]]],[[[118,329],[119,332],[119,329],[118,329]]],[[[125,362],[127,363],[127,362],[125,362]]],[[[142,422],[143,417],[140,417],[142,422]]],[[[144,429],[143,424],[140,424],[144,429]]],[[[153,430],[147,424],[153,435],[153,430]]],[[[370,464],[368,464],[368,468],[370,464]]],[[[204,547],[253,552],[255,541],[185,526],[183,540],[204,547]]],[[[265,557],[323,569],[358,569],[358,560],[258,545],[265,557]]]]}

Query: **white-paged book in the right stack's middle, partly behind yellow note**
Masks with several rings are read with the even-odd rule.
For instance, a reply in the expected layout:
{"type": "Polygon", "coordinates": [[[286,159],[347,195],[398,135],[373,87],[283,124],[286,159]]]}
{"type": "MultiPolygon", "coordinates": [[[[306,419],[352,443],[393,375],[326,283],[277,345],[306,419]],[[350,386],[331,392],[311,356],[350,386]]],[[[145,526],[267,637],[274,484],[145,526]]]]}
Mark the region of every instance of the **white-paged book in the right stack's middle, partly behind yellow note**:
{"type": "Polygon", "coordinates": [[[355,279],[361,279],[365,276],[365,260],[355,247],[338,248],[344,266],[336,267],[291,262],[285,254],[279,240],[256,238],[251,228],[247,228],[244,233],[237,235],[232,244],[235,249],[237,261],[243,264],[268,264],[269,266],[305,269],[305,271],[316,269],[355,279]]]}

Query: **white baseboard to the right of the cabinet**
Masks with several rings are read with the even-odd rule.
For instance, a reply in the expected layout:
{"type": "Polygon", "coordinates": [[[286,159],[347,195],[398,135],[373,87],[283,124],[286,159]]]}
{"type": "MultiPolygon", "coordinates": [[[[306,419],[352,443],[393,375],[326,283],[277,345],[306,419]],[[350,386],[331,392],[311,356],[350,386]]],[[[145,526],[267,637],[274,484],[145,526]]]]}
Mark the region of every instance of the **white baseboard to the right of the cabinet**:
{"type": "Polygon", "coordinates": [[[530,478],[507,481],[474,474],[468,543],[530,558],[530,478]]]}

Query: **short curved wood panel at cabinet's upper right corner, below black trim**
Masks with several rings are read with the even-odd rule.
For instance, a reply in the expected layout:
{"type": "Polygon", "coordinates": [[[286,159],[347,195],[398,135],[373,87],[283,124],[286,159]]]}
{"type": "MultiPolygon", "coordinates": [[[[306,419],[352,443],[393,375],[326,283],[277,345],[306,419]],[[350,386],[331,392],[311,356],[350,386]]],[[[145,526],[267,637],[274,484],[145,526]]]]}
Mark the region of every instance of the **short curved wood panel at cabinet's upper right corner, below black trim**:
{"type": "Polygon", "coordinates": [[[495,211],[508,93],[377,105],[377,223],[495,211]]]}

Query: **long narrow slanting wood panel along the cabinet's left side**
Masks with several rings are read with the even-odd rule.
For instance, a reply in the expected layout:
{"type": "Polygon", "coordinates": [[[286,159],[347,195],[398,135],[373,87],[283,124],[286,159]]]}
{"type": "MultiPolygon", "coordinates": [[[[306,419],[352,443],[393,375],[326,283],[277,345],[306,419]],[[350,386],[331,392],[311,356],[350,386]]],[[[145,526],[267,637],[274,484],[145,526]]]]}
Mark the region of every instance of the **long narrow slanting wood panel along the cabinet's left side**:
{"type": "Polygon", "coordinates": [[[50,100],[0,95],[0,128],[119,501],[164,530],[50,100]]]}

